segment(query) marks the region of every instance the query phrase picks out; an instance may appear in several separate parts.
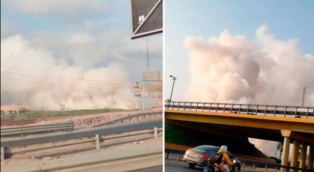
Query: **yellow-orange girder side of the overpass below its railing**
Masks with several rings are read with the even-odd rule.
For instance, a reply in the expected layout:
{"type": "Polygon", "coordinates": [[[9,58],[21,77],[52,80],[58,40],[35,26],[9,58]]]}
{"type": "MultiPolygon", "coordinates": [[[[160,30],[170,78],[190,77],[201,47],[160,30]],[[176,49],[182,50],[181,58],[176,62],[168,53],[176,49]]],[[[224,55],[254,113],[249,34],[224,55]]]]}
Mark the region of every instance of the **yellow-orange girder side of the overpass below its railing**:
{"type": "Polygon", "coordinates": [[[314,119],[165,109],[165,119],[276,130],[314,132],[314,119]]]}

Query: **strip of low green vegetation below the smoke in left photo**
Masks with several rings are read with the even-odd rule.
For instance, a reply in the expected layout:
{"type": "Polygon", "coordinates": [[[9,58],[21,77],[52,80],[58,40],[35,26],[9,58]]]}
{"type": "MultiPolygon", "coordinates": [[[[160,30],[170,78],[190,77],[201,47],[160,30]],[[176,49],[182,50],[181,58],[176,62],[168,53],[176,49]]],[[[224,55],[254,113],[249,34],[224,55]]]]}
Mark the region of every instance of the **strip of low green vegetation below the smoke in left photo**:
{"type": "Polygon", "coordinates": [[[28,111],[24,113],[11,113],[1,115],[1,121],[17,121],[17,120],[27,120],[27,119],[37,119],[37,118],[48,118],[57,116],[75,116],[82,114],[97,114],[106,112],[117,112],[117,111],[127,111],[123,109],[81,109],[81,110],[69,110],[69,111],[28,111]]]}

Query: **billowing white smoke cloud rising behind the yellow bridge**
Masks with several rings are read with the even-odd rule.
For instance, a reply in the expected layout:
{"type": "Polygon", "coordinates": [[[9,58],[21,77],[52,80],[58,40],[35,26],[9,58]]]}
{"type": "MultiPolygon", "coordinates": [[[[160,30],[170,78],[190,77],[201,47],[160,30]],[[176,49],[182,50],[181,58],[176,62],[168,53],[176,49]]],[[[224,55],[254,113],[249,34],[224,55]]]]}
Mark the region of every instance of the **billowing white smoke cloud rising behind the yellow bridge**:
{"type": "Polygon", "coordinates": [[[207,42],[188,36],[191,101],[298,106],[303,86],[306,105],[314,105],[314,56],[303,55],[298,40],[277,40],[261,25],[258,43],[228,30],[207,42]]]}

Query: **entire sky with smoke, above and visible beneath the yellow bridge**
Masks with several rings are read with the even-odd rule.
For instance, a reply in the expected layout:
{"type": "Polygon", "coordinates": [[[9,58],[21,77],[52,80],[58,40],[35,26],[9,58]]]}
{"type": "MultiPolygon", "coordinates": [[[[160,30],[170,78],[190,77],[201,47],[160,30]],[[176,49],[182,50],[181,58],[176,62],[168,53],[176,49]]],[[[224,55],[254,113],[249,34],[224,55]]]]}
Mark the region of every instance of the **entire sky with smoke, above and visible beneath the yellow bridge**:
{"type": "MultiPolygon", "coordinates": [[[[172,101],[300,106],[307,86],[305,106],[314,106],[313,0],[166,0],[164,6],[164,99],[173,75],[172,101]]],[[[275,155],[276,142],[249,140],[275,155]]]]}

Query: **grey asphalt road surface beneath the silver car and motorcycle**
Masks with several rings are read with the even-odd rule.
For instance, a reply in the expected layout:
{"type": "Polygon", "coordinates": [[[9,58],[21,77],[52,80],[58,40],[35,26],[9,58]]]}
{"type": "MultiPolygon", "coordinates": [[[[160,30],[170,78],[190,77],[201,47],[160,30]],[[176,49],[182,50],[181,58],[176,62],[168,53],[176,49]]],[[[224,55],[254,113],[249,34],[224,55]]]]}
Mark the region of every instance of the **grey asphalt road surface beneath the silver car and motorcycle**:
{"type": "MultiPolygon", "coordinates": [[[[165,161],[165,172],[203,172],[204,168],[196,166],[190,168],[187,163],[165,161]]],[[[240,172],[260,172],[254,170],[241,169],[240,172]]]]}

